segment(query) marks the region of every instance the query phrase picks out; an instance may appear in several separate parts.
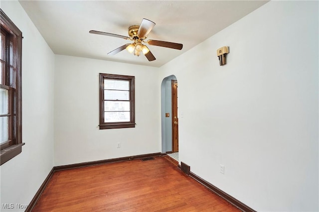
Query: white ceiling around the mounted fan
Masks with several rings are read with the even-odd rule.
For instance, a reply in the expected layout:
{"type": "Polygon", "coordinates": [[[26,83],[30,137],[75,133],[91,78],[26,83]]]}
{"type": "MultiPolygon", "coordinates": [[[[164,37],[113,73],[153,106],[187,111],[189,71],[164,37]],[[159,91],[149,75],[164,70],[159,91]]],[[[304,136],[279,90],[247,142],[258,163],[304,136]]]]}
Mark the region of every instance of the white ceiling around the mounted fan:
{"type": "MultiPolygon", "coordinates": [[[[20,0],[55,54],[160,67],[265,4],[262,0],[20,0]],[[128,36],[143,18],[156,23],[148,39],[182,43],[182,50],[148,45],[149,62],[126,50],[108,52],[131,41],[90,34],[89,30],[128,36]]],[[[225,45],[227,45],[225,43],[225,45]]]]}

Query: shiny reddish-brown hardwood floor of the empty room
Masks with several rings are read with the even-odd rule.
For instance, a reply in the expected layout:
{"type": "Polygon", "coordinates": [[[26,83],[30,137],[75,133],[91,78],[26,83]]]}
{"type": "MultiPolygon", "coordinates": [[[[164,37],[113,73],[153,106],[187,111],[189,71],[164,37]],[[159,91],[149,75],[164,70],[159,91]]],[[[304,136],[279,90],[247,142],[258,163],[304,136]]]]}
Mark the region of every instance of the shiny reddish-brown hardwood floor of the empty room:
{"type": "Polygon", "coordinates": [[[33,209],[33,212],[238,211],[165,157],[57,171],[33,209]]]}

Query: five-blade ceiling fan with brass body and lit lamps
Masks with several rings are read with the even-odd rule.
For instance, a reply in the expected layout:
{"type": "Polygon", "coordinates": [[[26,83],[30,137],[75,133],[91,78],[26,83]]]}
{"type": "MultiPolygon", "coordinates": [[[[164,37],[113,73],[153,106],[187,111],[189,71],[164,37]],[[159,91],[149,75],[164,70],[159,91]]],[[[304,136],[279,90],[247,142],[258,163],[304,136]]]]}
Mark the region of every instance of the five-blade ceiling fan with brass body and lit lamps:
{"type": "Polygon", "coordinates": [[[108,32],[100,32],[95,30],[91,30],[89,31],[89,33],[124,38],[126,40],[134,41],[133,43],[127,43],[123,46],[120,46],[117,49],[114,49],[113,51],[109,52],[108,55],[115,55],[121,52],[122,50],[127,49],[130,53],[133,53],[136,56],[140,56],[142,52],[149,61],[153,61],[153,60],[156,60],[156,58],[154,57],[150,49],[146,45],[142,44],[142,42],[148,43],[154,46],[161,46],[161,47],[178,49],[178,50],[181,50],[183,48],[183,44],[180,44],[180,43],[171,43],[171,42],[160,41],[160,40],[145,41],[145,39],[147,38],[147,36],[149,35],[149,33],[151,32],[154,26],[155,26],[155,23],[153,21],[143,18],[141,25],[132,25],[129,27],[130,37],[108,33],[108,32]]]}

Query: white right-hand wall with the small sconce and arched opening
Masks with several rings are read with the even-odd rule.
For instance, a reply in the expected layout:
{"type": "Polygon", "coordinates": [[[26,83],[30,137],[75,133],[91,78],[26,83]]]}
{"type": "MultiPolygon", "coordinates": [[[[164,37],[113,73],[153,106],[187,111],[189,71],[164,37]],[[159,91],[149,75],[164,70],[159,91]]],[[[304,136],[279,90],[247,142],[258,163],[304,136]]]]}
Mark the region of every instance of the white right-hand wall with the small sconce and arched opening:
{"type": "Polygon", "coordinates": [[[160,68],[178,79],[180,161],[257,211],[319,211],[318,17],[271,1],[160,68]]]}

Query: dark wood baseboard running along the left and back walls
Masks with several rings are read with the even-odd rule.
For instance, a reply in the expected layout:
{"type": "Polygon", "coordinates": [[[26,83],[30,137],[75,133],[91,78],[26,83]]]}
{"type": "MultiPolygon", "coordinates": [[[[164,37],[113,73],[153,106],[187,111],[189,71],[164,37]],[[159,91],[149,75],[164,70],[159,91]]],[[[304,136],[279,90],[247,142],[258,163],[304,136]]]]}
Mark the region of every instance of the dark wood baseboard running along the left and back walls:
{"type": "Polygon", "coordinates": [[[54,172],[56,171],[62,171],[62,170],[68,170],[68,169],[76,169],[76,168],[82,168],[82,167],[88,167],[88,166],[96,166],[96,165],[102,165],[102,164],[108,164],[108,163],[115,163],[115,162],[121,162],[121,161],[129,161],[129,160],[136,160],[136,159],[142,159],[142,158],[148,158],[148,157],[155,157],[155,156],[162,156],[162,153],[151,153],[151,154],[144,154],[144,155],[135,155],[135,156],[128,156],[128,157],[122,157],[122,158],[114,158],[114,159],[106,159],[106,160],[99,160],[99,161],[91,161],[91,162],[84,162],[84,163],[76,163],[76,164],[70,164],[70,165],[63,165],[63,166],[55,166],[51,169],[48,176],[45,178],[44,182],[38,189],[38,191],[35,193],[34,197],[32,198],[30,204],[26,208],[25,212],[32,212],[34,209],[36,203],[40,199],[44,189],[46,188],[47,184],[49,183],[51,177],[53,176],[54,172]]]}

